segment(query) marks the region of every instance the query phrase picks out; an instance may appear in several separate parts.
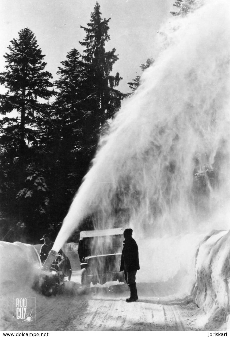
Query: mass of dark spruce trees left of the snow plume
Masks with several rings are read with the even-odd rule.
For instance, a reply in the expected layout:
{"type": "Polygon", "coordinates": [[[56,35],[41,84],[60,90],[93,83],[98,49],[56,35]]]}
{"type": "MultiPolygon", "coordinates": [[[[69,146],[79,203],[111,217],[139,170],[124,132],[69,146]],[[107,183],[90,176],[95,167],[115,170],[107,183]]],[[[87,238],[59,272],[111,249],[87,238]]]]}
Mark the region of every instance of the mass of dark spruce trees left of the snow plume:
{"type": "MultiPolygon", "coordinates": [[[[179,11],[184,2],[175,2],[179,11]]],[[[6,89],[0,95],[0,240],[37,243],[44,233],[55,238],[100,133],[130,95],[116,89],[119,73],[111,74],[118,56],[115,48],[105,49],[109,21],[96,3],[81,27],[83,53],[74,48],[67,54],[54,83],[29,28],[10,41],[0,73],[6,89]]],[[[147,59],[142,71],[152,63],[147,59]]],[[[128,84],[135,91],[140,76],[128,84]]]]}

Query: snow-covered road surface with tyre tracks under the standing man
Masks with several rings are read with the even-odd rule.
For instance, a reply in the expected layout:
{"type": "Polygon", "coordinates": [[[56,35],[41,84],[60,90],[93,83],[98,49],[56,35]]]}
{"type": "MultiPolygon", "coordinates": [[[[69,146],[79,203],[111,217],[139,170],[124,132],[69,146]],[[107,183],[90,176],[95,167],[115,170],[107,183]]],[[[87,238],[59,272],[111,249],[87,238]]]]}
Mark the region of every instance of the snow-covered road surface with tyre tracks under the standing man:
{"type": "MultiPolygon", "coordinates": [[[[78,279],[75,272],[73,279],[78,279]]],[[[91,287],[66,282],[63,295],[45,297],[30,288],[2,289],[3,331],[196,331],[208,330],[206,318],[190,297],[163,297],[162,284],[139,283],[139,300],[126,303],[127,285],[91,287]],[[20,325],[12,318],[14,296],[36,297],[36,324],[20,325]]],[[[218,327],[217,327],[218,328],[218,327]]]]}

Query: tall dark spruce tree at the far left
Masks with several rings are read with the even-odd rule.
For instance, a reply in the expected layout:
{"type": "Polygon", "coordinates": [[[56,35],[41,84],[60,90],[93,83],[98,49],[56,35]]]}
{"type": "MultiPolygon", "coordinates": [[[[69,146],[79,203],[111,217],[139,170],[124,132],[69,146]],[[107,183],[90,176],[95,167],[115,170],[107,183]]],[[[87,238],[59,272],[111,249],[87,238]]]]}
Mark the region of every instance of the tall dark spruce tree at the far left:
{"type": "Polygon", "coordinates": [[[6,212],[24,221],[25,214],[28,215],[25,200],[33,194],[27,183],[33,181],[38,192],[46,188],[33,158],[38,129],[48,109],[44,101],[53,95],[50,90],[53,85],[51,73],[44,70],[45,55],[29,28],[20,30],[18,38],[10,43],[9,53],[4,55],[6,71],[0,73],[0,84],[6,88],[5,94],[0,95],[1,205],[6,212]]]}

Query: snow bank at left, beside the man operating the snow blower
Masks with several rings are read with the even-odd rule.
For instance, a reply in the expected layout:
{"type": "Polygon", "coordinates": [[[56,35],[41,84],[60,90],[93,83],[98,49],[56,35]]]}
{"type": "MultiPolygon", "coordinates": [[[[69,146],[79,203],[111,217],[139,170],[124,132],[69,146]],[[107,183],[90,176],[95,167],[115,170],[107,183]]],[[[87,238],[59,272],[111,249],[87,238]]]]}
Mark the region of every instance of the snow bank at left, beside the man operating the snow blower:
{"type": "Polygon", "coordinates": [[[0,241],[0,256],[0,286],[10,282],[32,285],[41,267],[40,257],[34,246],[0,241]]]}

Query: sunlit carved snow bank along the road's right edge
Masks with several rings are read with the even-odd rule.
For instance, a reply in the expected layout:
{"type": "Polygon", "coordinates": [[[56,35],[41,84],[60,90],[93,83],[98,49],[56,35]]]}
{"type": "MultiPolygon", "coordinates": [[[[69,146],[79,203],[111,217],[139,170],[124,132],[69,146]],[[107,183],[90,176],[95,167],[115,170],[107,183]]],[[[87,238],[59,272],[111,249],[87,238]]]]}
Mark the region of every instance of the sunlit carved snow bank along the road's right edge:
{"type": "MultiPolygon", "coordinates": [[[[212,231],[196,253],[194,302],[203,307],[209,322],[226,322],[230,313],[230,231],[212,231]]],[[[229,325],[230,326],[230,325],[229,325]]],[[[226,328],[226,327],[225,327],[226,328]]]]}

